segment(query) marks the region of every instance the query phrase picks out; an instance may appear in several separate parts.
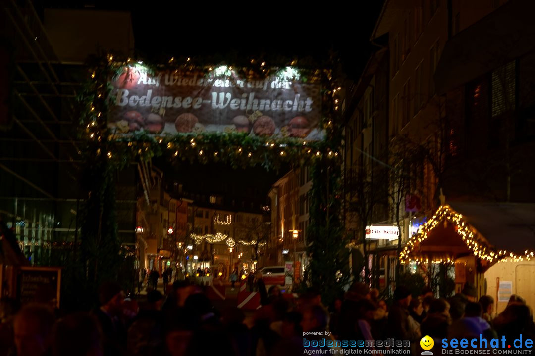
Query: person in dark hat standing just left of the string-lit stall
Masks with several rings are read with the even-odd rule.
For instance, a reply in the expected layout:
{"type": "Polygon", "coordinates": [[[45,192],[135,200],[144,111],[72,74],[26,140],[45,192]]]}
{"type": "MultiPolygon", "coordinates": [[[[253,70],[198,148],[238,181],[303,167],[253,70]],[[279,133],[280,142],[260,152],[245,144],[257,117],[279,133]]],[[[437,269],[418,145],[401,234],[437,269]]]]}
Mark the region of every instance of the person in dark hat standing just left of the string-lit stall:
{"type": "Polygon", "coordinates": [[[405,286],[394,290],[394,303],[388,313],[389,336],[398,340],[411,340],[409,323],[409,305],[412,299],[411,291],[405,286]]]}

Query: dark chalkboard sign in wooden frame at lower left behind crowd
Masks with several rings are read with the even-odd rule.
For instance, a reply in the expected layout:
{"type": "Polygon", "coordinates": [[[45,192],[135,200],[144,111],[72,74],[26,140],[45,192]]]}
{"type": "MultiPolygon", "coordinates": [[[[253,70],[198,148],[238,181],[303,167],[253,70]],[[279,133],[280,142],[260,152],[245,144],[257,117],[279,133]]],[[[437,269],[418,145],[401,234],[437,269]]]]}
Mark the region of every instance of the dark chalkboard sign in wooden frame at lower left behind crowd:
{"type": "Polygon", "coordinates": [[[62,270],[59,267],[21,266],[17,272],[17,298],[21,304],[51,302],[59,308],[62,270]]]}

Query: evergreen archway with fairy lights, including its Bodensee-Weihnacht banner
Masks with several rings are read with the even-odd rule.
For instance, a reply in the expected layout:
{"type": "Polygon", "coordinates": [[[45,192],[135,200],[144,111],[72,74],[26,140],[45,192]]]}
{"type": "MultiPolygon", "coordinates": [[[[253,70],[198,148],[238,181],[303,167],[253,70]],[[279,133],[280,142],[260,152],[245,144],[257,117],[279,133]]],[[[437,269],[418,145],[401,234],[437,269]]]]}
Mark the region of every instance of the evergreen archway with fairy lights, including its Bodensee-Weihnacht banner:
{"type": "MultiPolygon", "coordinates": [[[[111,54],[89,64],[80,93],[85,157],[81,262],[88,288],[114,270],[120,248],[116,172],[167,157],[231,167],[311,167],[306,286],[326,302],[349,280],[341,218],[341,86],[332,70],[295,60],[228,63],[171,58],[152,66],[111,54]],[[318,69],[319,68],[319,69],[318,69]]],[[[231,242],[232,243],[232,242],[231,242]]]]}

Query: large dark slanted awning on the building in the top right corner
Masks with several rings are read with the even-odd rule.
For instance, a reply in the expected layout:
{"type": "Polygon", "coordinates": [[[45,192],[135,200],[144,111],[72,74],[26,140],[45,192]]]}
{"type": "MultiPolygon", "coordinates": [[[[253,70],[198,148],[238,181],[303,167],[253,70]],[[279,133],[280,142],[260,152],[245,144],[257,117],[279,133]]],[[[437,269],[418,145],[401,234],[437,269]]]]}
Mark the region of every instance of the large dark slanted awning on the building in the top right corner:
{"type": "Polygon", "coordinates": [[[446,42],[435,70],[439,94],[535,49],[535,2],[510,0],[446,42]]]}

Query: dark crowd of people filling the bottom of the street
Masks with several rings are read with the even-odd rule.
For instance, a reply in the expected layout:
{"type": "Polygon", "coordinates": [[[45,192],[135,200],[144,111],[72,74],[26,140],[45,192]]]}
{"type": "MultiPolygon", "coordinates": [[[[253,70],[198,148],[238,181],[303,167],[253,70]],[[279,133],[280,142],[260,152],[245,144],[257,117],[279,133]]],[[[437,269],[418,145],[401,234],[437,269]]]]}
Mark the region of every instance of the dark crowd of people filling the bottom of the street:
{"type": "Polygon", "coordinates": [[[2,300],[0,356],[284,356],[303,354],[312,347],[307,343],[319,338],[395,338],[410,341],[412,354],[419,354],[418,342],[425,335],[438,348],[442,338],[482,334],[512,342],[520,334],[535,337],[531,310],[522,298],[511,296],[494,317],[493,298],[476,300],[470,285],[449,299],[435,298],[429,289],[414,296],[399,286],[390,302],[380,299],[377,289],[354,283],[329,313],[318,290],[288,298],[277,286],[266,291],[261,282],[258,275],[262,307],[251,323],[237,307],[215,308],[202,287],[187,280],[175,281],[165,296],[150,290],[139,303],[126,297],[119,284],[104,283],[98,290],[99,307],[60,318],[51,305],[27,304],[17,310],[2,300]]]}

